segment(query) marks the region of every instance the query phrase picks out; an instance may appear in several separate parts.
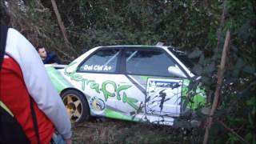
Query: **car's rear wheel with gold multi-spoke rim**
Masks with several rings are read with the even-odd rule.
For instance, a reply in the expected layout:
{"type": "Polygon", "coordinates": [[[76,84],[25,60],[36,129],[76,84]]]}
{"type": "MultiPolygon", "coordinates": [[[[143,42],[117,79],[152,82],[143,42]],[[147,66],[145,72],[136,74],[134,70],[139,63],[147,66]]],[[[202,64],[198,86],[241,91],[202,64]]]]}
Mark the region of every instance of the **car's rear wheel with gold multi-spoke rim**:
{"type": "Polygon", "coordinates": [[[78,124],[90,118],[90,108],[82,93],[78,90],[66,90],[61,96],[71,122],[78,124]]]}

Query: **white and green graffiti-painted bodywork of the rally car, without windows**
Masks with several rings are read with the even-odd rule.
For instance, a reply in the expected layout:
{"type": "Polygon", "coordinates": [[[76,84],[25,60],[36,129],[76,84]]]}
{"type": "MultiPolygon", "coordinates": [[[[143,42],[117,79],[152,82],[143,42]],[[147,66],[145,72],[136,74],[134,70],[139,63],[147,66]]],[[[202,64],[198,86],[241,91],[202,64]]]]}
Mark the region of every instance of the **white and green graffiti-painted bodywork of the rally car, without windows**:
{"type": "MultiPolygon", "coordinates": [[[[64,69],[46,66],[54,86],[61,95],[66,90],[76,90],[84,95],[82,98],[86,101],[80,101],[80,97],[75,99],[75,94],[70,98],[67,97],[66,105],[67,103],[73,104],[66,107],[71,107],[68,111],[72,113],[70,117],[77,118],[74,118],[74,121],[78,121],[79,117],[84,114],[80,105],[84,107],[83,109],[86,109],[84,105],[88,105],[90,115],[93,116],[158,122],[166,125],[172,125],[174,118],[182,113],[182,99],[188,93],[190,78],[108,74],[108,71],[114,69],[114,66],[108,62],[104,65],[81,65],[83,59],[77,58],[64,69]],[[79,66],[81,70],[94,70],[96,73],[79,72],[79,66]]],[[[63,97],[65,95],[62,95],[63,97]]],[[[188,108],[194,110],[204,100],[205,93],[198,89],[188,108]]]]}

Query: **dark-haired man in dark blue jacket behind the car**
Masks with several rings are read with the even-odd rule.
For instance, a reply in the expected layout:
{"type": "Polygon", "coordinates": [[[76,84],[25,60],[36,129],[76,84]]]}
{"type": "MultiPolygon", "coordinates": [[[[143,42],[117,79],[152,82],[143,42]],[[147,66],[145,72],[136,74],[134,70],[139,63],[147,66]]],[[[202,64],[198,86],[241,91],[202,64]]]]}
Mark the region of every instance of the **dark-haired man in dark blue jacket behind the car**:
{"type": "Polygon", "coordinates": [[[43,46],[38,46],[37,50],[44,64],[60,64],[61,63],[60,60],[58,59],[58,56],[53,51],[47,52],[46,48],[43,46]]]}

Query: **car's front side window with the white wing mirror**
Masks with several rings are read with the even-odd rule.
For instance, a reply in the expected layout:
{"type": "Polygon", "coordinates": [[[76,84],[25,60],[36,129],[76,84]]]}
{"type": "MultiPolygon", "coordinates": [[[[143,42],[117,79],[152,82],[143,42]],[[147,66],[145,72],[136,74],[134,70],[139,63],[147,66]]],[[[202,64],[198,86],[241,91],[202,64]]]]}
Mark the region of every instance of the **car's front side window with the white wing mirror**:
{"type": "Polygon", "coordinates": [[[126,50],[126,74],[143,74],[185,78],[186,75],[162,50],[126,50]],[[171,73],[177,68],[179,73],[171,73]]]}

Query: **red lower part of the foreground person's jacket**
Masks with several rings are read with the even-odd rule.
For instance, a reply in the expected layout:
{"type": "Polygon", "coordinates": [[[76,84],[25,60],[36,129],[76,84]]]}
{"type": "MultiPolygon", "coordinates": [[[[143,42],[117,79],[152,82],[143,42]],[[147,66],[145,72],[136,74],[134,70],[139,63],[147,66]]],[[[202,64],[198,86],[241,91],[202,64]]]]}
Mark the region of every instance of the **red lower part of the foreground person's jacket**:
{"type": "MultiPolygon", "coordinates": [[[[0,99],[11,110],[26,136],[31,143],[37,143],[34,131],[33,120],[30,111],[30,94],[26,89],[22,76],[22,70],[13,58],[5,57],[0,71],[0,99]]],[[[39,110],[34,100],[34,110],[38,120],[38,130],[41,143],[49,144],[50,138],[54,133],[54,125],[46,117],[46,114],[39,110]]]]}

